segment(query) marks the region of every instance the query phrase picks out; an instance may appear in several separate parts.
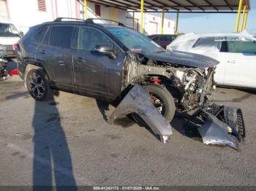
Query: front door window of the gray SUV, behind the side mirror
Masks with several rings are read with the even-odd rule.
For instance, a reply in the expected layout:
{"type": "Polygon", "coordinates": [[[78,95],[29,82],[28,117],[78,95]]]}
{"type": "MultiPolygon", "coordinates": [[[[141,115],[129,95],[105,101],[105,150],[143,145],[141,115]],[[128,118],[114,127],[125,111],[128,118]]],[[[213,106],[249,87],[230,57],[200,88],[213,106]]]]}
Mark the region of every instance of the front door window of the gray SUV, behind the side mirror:
{"type": "Polygon", "coordinates": [[[91,27],[80,27],[78,34],[78,49],[85,50],[87,52],[94,51],[97,44],[108,44],[119,52],[115,44],[101,31],[91,27]]]}

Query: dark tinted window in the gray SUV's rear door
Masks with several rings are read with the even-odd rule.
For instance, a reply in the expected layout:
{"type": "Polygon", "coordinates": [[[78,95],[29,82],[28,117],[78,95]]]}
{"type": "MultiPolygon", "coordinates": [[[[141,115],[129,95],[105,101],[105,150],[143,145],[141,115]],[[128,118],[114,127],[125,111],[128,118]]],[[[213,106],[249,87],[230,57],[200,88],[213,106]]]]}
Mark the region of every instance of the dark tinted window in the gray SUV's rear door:
{"type": "Polygon", "coordinates": [[[49,44],[53,47],[71,47],[72,26],[53,26],[50,32],[49,44]]]}

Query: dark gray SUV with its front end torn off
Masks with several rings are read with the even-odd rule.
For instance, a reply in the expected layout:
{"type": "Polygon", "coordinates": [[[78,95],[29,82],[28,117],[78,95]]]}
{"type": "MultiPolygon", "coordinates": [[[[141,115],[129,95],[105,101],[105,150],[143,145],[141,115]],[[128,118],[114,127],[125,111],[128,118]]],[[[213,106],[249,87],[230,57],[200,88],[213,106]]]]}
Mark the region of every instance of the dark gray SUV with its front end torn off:
{"type": "Polygon", "coordinates": [[[208,105],[218,61],[167,52],[121,23],[65,19],[31,27],[18,42],[18,71],[36,100],[58,89],[121,101],[140,85],[167,122],[208,105]]]}

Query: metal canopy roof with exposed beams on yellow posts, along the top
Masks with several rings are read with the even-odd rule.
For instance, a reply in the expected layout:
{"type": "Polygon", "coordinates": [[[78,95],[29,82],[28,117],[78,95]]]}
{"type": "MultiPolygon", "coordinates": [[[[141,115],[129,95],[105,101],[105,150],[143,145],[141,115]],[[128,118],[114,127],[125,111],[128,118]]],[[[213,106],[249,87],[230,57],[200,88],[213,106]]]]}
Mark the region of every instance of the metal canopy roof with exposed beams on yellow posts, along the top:
{"type": "MultiPolygon", "coordinates": [[[[88,0],[118,9],[140,11],[140,0],[88,0]]],[[[250,9],[249,0],[243,2],[250,9]]],[[[237,12],[238,0],[144,0],[144,12],[237,12]]]]}

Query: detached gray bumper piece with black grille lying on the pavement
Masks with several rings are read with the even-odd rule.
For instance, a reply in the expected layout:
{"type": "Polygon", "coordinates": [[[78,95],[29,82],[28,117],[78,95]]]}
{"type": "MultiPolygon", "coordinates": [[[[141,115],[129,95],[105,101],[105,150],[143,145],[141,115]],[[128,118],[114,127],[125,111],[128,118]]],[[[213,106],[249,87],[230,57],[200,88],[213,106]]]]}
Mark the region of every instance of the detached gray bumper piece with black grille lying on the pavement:
{"type": "Polygon", "coordinates": [[[204,122],[198,128],[204,144],[221,144],[238,149],[238,141],[244,141],[245,125],[241,109],[211,104],[192,116],[200,117],[204,122]]]}

